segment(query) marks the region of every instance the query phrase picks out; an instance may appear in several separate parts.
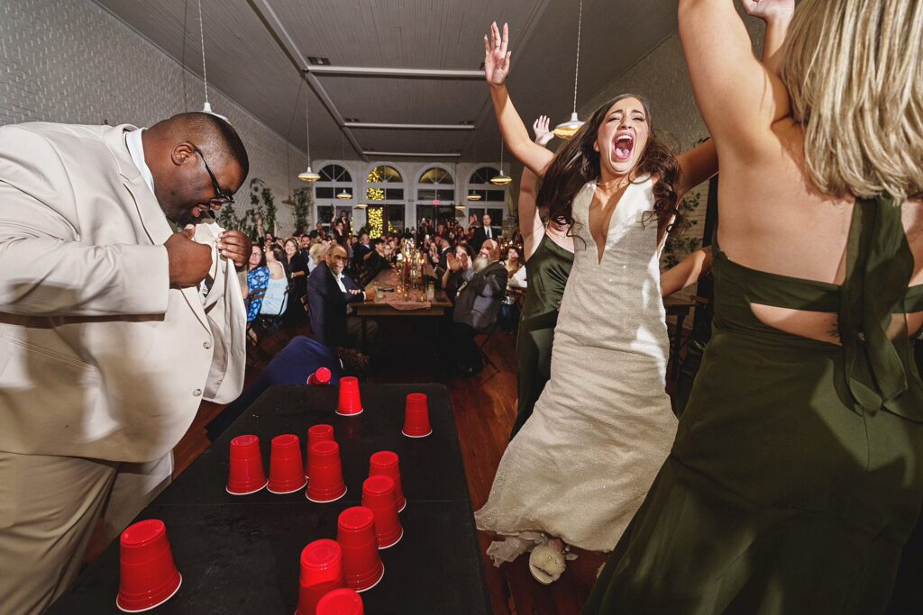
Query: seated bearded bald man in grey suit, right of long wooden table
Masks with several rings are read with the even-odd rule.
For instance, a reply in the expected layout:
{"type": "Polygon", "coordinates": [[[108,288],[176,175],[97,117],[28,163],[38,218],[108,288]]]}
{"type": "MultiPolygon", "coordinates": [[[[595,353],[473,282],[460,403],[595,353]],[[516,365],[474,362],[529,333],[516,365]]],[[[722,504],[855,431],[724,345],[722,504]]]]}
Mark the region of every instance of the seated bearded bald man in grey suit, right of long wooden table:
{"type": "Polygon", "coordinates": [[[458,290],[453,319],[462,373],[472,375],[484,367],[474,336],[497,322],[500,302],[507,292],[507,270],[500,263],[499,244],[485,240],[472,269],[463,276],[467,281],[458,290]]]}

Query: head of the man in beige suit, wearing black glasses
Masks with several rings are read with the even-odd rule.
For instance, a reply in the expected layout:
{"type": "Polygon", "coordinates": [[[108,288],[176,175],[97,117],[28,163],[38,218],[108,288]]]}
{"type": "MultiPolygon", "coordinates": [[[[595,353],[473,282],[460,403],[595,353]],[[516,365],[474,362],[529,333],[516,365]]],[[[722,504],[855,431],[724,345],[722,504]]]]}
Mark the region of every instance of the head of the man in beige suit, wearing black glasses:
{"type": "Polygon", "coordinates": [[[154,194],[167,218],[178,224],[195,223],[209,209],[221,208],[250,170],[240,136],[211,113],[179,113],[141,138],[154,194]]]}

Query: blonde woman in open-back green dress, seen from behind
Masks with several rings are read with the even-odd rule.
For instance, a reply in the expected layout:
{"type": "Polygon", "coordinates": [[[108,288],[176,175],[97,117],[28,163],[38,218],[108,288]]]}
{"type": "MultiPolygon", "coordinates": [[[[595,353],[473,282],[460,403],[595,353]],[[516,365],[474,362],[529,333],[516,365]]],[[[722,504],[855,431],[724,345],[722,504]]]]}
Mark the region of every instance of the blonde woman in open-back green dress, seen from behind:
{"type": "Polygon", "coordinates": [[[733,0],[679,2],[722,173],[714,335],[584,613],[888,604],[923,502],[923,3],[794,5],[744,0],[761,65],[733,0]]]}

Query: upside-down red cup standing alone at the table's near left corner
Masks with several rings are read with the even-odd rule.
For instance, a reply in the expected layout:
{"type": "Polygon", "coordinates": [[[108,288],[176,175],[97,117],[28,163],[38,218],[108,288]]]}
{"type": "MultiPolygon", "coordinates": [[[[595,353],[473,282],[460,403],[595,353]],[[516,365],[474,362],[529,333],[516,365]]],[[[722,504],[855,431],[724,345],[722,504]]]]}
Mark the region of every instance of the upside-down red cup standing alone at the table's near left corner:
{"type": "Polygon", "coordinates": [[[161,520],[148,519],[128,526],[119,544],[121,576],[115,606],[137,613],[173,597],[183,577],[176,570],[167,528],[161,520]]]}

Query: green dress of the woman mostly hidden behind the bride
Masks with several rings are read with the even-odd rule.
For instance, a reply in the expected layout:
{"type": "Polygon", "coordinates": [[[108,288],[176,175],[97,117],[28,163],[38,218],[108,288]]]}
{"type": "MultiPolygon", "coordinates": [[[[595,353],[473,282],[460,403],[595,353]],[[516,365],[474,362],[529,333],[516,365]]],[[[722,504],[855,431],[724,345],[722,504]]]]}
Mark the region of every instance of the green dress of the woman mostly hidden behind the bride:
{"type": "Polygon", "coordinates": [[[510,440],[532,416],[535,402],[551,377],[551,346],[555,339],[557,310],[573,263],[574,254],[557,245],[547,234],[525,263],[528,286],[516,337],[519,400],[510,440]]]}

